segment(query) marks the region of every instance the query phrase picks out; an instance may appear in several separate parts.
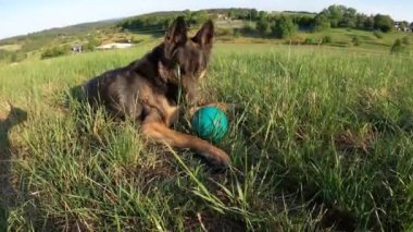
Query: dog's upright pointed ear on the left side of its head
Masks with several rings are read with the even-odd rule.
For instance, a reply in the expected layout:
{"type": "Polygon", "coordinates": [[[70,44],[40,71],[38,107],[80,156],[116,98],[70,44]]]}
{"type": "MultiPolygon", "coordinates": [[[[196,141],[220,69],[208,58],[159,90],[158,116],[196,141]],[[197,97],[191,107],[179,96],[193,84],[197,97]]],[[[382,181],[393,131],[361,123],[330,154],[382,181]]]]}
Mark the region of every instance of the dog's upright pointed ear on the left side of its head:
{"type": "Polygon", "coordinates": [[[171,25],[165,35],[165,45],[167,54],[172,52],[179,46],[187,42],[187,26],[183,16],[178,16],[174,23],[171,25]]]}

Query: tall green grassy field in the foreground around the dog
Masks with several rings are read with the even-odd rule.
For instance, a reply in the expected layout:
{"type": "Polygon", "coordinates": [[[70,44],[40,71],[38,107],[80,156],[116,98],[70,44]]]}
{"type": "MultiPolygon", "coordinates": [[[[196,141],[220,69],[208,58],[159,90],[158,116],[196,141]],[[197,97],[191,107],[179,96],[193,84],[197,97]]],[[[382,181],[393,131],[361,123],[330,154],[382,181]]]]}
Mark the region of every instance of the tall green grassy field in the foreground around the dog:
{"type": "Polygon", "coordinates": [[[72,99],[149,48],[0,68],[0,231],[413,230],[412,57],[217,45],[205,96],[242,109],[216,173],[72,99]]]}

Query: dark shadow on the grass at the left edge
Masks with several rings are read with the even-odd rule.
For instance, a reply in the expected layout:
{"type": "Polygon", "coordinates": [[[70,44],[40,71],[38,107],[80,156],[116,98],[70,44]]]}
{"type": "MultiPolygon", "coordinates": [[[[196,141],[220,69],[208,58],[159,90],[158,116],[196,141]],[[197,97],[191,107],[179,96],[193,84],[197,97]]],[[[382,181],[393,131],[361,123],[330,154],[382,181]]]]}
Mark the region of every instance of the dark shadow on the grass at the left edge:
{"type": "Polygon", "coordinates": [[[7,231],[9,207],[14,204],[15,190],[11,184],[11,142],[9,132],[27,119],[27,112],[10,105],[9,114],[0,117],[0,231],[7,231]]]}

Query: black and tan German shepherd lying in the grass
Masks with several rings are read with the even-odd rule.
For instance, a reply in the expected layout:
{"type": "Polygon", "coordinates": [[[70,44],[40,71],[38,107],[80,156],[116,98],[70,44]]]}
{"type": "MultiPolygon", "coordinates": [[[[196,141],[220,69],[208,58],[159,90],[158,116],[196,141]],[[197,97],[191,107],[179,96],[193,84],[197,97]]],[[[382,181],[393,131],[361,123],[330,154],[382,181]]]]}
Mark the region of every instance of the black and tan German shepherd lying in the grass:
{"type": "Polygon", "coordinates": [[[197,103],[197,85],[205,74],[213,40],[212,21],[188,37],[184,17],[177,17],[164,41],[142,59],[88,81],[83,86],[87,100],[103,105],[118,118],[138,121],[141,133],[151,139],[190,148],[213,164],[226,167],[229,157],[225,151],[170,129],[179,113],[180,91],[186,103],[197,103]]]}

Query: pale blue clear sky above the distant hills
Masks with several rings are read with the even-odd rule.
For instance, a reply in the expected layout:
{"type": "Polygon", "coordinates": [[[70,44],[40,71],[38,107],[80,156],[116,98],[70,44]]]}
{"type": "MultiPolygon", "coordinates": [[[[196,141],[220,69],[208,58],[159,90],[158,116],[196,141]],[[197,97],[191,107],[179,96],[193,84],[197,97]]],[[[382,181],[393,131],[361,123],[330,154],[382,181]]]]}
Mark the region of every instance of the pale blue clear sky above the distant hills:
{"type": "Polygon", "coordinates": [[[236,7],[318,12],[335,3],[413,21],[413,0],[0,0],[0,38],[153,11],[236,7]]]}

